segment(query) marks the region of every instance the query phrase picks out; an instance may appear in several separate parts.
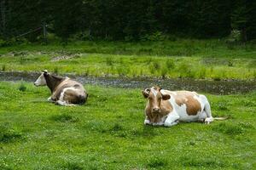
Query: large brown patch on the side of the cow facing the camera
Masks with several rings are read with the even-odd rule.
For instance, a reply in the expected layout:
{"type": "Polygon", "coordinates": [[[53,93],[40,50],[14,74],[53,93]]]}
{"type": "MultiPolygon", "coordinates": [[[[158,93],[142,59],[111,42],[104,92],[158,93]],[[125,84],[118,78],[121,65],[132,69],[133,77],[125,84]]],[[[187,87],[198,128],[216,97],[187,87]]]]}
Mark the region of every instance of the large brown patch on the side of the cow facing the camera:
{"type": "Polygon", "coordinates": [[[180,91],[175,95],[175,102],[181,106],[185,104],[187,106],[187,113],[189,116],[197,115],[198,111],[201,111],[201,105],[197,99],[194,98],[198,95],[194,92],[180,91]]]}

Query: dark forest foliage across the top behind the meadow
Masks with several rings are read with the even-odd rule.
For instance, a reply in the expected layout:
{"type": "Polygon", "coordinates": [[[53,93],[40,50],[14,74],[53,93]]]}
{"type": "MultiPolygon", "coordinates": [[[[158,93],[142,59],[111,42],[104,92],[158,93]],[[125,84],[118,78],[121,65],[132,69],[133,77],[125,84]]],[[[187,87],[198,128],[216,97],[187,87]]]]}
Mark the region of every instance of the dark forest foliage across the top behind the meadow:
{"type": "MultiPolygon", "coordinates": [[[[168,37],[166,35],[224,37],[230,34],[230,30],[236,29],[242,32],[244,41],[255,39],[256,36],[254,1],[2,2],[0,37],[17,37],[42,27],[44,22],[49,32],[65,42],[74,34],[79,40],[162,41],[168,37]]],[[[26,38],[37,41],[42,31],[33,31],[26,38]]]]}

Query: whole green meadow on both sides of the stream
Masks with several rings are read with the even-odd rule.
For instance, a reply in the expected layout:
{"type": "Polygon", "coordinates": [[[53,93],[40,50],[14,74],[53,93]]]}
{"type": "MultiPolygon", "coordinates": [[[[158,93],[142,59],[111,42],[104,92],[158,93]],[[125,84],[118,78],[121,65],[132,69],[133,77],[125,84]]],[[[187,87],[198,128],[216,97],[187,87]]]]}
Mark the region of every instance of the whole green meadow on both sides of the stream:
{"type": "MultiPolygon", "coordinates": [[[[255,82],[255,49],[253,43],[218,39],[24,43],[0,48],[0,70],[255,82]]],[[[62,107],[47,102],[48,88],[0,82],[0,169],[256,167],[255,89],[232,95],[202,92],[213,116],[228,116],[225,121],[151,127],[143,125],[142,89],[84,87],[89,92],[85,105],[62,107]]]]}

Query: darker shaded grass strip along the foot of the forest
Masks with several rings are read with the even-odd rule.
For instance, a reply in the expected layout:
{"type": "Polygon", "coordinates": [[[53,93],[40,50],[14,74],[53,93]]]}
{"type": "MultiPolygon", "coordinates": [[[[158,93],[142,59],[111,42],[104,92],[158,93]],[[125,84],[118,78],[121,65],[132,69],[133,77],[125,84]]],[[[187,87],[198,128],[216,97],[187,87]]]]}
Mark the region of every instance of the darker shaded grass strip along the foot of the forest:
{"type": "Polygon", "coordinates": [[[58,42],[49,45],[37,43],[3,47],[0,54],[20,51],[96,53],[96,54],[133,54],[133,55],[168,55],[168,56],[199,56],[220,58],[255,58],[256,46],[251,43],[237,45],[225,39],[181,39],[159,42],[90,42],[72,41],[63,46],[58,42]]]}

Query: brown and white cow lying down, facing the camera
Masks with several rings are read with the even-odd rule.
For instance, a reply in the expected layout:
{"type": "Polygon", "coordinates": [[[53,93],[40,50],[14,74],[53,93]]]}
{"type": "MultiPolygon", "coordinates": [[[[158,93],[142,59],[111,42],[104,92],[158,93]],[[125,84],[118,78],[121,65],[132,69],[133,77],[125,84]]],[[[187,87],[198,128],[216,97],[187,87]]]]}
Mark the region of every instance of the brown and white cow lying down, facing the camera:
{"type": "Polygon", "coordinates": [[[213,122],[211,107],[205,95],[189,91],[169,91],[158,87],[146,88],[142,91],[148,99],[145,108],[144,124],[164,125],[171,127],[182,122],[213,122]]]}

